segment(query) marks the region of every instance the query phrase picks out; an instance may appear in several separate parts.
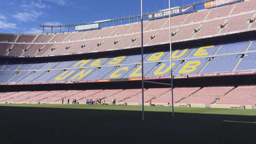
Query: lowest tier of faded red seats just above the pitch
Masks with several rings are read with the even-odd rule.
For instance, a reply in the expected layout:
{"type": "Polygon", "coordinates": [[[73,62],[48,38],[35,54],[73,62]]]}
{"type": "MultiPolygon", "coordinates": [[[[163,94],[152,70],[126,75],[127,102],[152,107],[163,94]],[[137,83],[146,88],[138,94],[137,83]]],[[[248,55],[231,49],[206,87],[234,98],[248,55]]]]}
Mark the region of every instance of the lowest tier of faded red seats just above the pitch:
{"type": "MultiPolygon", "coordinates": [[[[255,86],[218,86],[218,87],[175,87],[174,103],[177,104],[229,104],[256,105],[255,86]]],[[[38,103],[64,104],[76,99],[79,104],[86,104],[88,99],[102,100],[105,104],[141,103],[141,89],[91,89],[91,90],[53,90],[53,91],[22,91],[0,92],[0,103],[38,103]]],[[[144,102],[152,104],[171,104],[170,88],[151,88],[144,90],[144,102]]]]}

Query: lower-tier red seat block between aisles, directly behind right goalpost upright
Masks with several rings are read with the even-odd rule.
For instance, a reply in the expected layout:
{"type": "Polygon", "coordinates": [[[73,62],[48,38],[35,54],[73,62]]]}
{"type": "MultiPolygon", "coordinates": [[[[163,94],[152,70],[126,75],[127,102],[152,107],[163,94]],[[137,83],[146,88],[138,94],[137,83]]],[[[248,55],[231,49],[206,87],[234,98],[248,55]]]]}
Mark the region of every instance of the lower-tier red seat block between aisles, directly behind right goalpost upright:
{"type": "MultiPolygon", "coordinates": [[[[189,96],[192,93],[196,92],[200,87],[177,87],[173,89],[174,94],[174,103],[180,101],[180,99],[184,98],[185,96],[189,96]]],[[[172,92],[169,89],[168,92],[160,95],[159,97],[152,100],[152,103],[166,103],[172,104],[172,92]]]]}

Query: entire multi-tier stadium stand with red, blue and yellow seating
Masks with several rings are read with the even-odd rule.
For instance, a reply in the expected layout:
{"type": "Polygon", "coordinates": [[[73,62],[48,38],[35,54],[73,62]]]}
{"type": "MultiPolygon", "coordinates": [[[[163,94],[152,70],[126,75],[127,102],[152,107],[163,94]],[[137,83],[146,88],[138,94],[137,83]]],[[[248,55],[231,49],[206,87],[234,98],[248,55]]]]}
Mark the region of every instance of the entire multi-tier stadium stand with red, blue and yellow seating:
{"type": "MultiPolygon", "coordinates": [[[[172,66],[169,13],[147,14],[143,22],[143,75],[168,83],[173,68],[174,106],[256,108],[256,0],[218,2],[199,11],[194,5],[172,9],[172,66]]],[[[140,23],[76,28],[90,30],[1,34],[0,103],[115,98],[117,104],[140,104],[140,23]]],[[[146,104],[171,103],[170,88],[145,87],[146,104]]]]}

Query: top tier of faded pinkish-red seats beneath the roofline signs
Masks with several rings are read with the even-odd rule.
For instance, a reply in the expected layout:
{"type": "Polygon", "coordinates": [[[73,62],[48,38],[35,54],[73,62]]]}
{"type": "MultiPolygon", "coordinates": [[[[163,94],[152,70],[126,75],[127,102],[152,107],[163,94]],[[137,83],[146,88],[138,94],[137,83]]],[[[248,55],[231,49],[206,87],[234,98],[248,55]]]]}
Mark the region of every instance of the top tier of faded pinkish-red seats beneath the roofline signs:
{"type": "MultiPolygon", "coordinates": [[[[256,28],[256,22],[249,23],[248,20],[255,18],[255,5],[255,0],[248,0],[229,6],[200,10],[198,12],[171,17],[173,43],[181,40],[211,37],[212,35],[227,35],[230,32],[253,30],[256,28]]],[[[141,43],[140,26],[140,23],[132,23],[86,32],[54,35],[2,34],[0,35],[0,55],[67,55],[139,47],[141,43]],[[69,43],[64,43],[67,41],[69,43]],[[9,43],[9,45],[3,44],[6,42],[9,43]],[[6,50],[12,47],[10,42],[15,42],[15,48],[11,49],[11,52],[8,53],[6,50]],[[26,44],[31,44],[31,42],[42,43],[46,46],[41,49],[39,48],[40,52],[36,52],[37,48],[35,48],[32,52],[25,51],[23,53],[24,49],[27,48],[26,44]],[[52,45],[52,43],[54,44],[52,45]],[[18,47],[17,44],[19,44],[18,47]]],[[[168,43],[168,27],[168,18],[143,22],[145,32],[144,45],[168,43]]]]}

